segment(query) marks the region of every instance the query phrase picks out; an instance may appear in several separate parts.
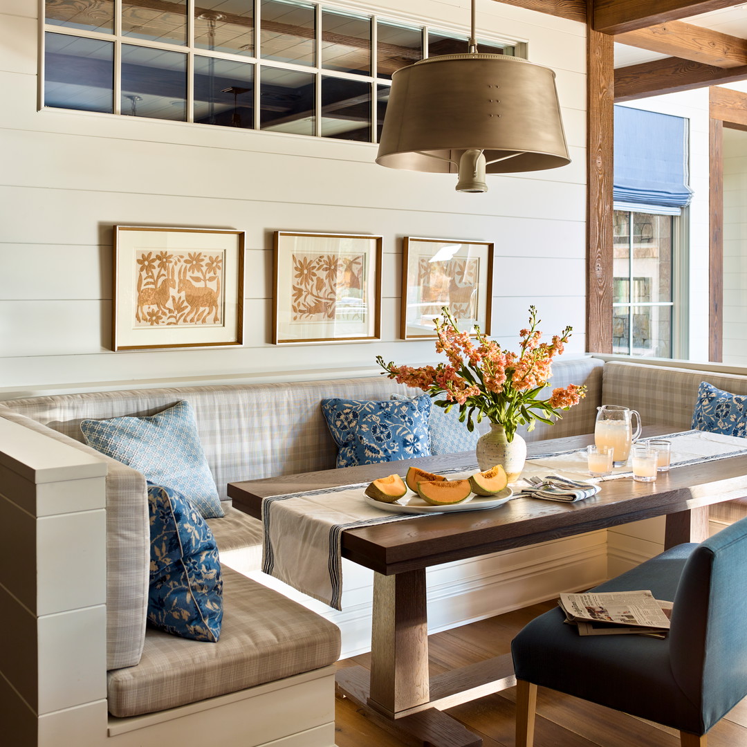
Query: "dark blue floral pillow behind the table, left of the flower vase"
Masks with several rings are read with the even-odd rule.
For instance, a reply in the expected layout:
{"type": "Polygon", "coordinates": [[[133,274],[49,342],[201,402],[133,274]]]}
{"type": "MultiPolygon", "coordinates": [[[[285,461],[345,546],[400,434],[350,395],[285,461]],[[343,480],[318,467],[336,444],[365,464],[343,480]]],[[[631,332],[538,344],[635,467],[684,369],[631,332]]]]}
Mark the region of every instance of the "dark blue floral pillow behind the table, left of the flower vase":
{"type": "Polygon", "coordinates": [[[322,400],[337,466],[355,467],[430,456],[430,397],[414,400],[322,400]]]}

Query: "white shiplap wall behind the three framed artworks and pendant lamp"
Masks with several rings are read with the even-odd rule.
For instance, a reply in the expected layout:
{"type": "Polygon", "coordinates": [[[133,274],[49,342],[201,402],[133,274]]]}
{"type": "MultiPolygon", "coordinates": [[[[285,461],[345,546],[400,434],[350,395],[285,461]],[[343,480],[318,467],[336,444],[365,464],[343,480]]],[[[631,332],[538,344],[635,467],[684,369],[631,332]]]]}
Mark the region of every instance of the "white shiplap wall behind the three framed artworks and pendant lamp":
{"type": "MultiPolygon", "coordinates": [[[[363,7],[361,4],[356,7],[363,7]]],[[[469,22],[466,0],[380,0],[391,18],[469,22]]],[[[585,28],[493,0],[483,34],[527,41],[557,71],[572,163],[491,177],[483,195],[455,177],[388,170],[376,146],[73,111],[37,111],[36,0],[0,4],[0,398],[151,383],[294,379],[373,371],[434,357],[398,340],[401,238],[495,241],[495,334],[515,346],[530,303],[544,329],[571,323],[584,343],[585,28]],[[243,347],[111,352],[112,226],[247,232],[243,347]],[[277,229],[384,237],[382,341],[270,344],[277,229]],[[538,275],[542,274],[542,279],[538,275]]]]}

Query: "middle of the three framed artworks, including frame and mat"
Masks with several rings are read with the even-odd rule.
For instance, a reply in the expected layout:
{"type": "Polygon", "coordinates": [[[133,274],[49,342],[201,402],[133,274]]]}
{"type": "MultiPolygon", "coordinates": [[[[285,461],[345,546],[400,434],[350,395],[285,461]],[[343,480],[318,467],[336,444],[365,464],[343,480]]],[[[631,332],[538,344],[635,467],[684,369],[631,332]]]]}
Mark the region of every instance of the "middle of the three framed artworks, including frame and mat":
{"type": "Polygon", "coordinates": [[[378,340],[381,236],[275,232],[273,343],[378,340]]]}

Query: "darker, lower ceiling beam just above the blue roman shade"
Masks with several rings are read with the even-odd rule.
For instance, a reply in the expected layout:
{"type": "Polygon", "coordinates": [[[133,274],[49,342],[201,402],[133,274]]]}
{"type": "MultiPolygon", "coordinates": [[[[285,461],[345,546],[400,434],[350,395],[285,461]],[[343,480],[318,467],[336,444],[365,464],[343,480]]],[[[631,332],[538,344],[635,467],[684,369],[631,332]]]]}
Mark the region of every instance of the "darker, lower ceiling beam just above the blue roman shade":
{"type": "Polygon", "coordinates": [[[616,69],[615,100],[622,102],[644,99],[646,96],[657,96],[660,93],[676,93],[707,85],[734,83],[745,78],[747,66],[727,70],[668,57],[616,69]]]}

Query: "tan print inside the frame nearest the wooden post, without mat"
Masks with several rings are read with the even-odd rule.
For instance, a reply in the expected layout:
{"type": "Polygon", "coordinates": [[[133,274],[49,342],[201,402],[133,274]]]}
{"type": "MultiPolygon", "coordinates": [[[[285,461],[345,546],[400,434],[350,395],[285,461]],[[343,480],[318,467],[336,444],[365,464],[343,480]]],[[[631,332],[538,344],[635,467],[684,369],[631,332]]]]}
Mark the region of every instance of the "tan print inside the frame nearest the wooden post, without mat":
{"type": "Polygon", "coordinates": [[[455,319],[477,318],[479,270],[477,257],[436,262],[427,257],[418,258],[418,286],[424,304],[421,314],[430,320],[441,314],[441,307],[447,306],[455,319]]]}

